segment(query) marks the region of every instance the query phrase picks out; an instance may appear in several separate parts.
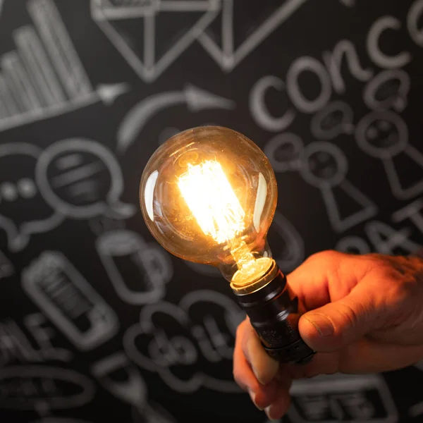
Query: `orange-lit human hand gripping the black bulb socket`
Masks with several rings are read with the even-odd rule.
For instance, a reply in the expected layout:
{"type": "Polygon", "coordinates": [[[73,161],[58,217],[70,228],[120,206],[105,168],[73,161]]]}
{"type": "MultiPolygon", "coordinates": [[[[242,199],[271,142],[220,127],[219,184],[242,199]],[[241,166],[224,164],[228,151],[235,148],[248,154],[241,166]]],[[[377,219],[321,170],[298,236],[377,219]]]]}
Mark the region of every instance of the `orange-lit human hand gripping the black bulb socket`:
{"type": "Polygon", "coordinates": [[[387,372],[423,359],[423,259],[319,252],[287,279],[300,301],[300,335],[317,351],[312,362],[276,362],[248,319],[233,355],[235,381],[269,419],[288,410],[293,379],[387,372]]]}

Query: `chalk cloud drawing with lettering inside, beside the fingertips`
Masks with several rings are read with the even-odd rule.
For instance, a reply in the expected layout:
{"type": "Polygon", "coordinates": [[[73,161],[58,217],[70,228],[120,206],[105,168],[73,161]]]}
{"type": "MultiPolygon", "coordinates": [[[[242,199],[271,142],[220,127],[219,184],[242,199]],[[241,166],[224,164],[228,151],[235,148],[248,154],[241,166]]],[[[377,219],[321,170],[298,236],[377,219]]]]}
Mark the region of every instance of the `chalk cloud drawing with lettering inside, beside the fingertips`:
{"type": "Polygon", "coordinates": [[[235,331],[244,318],[226,295],[192,291],[178,305],[159,302],[143,307],[140,321],[123,336],[123,348],[130,360],[159,374],[176,392],[204,386],[238,393],[231,362],[235,331]]]}

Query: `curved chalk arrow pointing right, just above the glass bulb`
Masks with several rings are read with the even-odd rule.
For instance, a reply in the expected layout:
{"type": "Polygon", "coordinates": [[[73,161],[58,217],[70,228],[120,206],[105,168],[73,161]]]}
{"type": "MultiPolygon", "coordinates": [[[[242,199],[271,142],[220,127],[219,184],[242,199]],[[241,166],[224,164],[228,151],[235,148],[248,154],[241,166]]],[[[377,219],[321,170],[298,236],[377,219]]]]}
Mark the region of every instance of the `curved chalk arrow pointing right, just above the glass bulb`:
{"type": "Polygon", "coordinates": [[[187,85],[182,91],[162,92],[143,99],[131,109],[118,130],[118,152],[123,153],[134,142],[146,123],[161,109],[186,104],[192,112],[204,109],[233,109],[232,100],[187,85]]]}

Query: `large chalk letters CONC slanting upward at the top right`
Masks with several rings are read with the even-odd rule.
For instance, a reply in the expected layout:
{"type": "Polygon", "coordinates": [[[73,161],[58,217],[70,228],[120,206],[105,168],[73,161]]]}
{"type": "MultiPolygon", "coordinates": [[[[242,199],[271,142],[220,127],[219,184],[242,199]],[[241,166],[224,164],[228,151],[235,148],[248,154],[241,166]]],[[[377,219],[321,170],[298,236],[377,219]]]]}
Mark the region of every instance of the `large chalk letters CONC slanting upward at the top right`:
{"type": "MultiPolygon", "coordinates": [[[[383,51],[381,38],[388,31],[398,32],[407,27],[411,39],[419,47],[423,47],[423,28],[419,27],[419,20],[423,16],[423,0],[412,4],[408,14],[407,23],[403,23],[394,16],[381,16],[370,27],[367,34],[366,49],[369,59],[374,65],[383,69],[403,68],[412,61],[410,51],[399,51],[388,54],[383,51]]],[[[250,110],[256,123],[269,132],[281,132],[289,128],[295,120],[295,110],[288,107],[281,116],[272,116],[266,106],[265,96],[271,89],[288,94],[288,99],[298,111],[305,114],[314,114],[330,102],[332,93],[345,93],[345,81],[341,73],[343,63],[353,77],[360,82],[369,82],[374,76],[372,68],[364,68],[360,63],[357,48],[348,39],[341,39],[332,49],[324,51],[322,60],[310,56],[301,56],[290,64],[286,75],[286,84],[274,75],[266,75],[259,79],[250,92],[250,110]],[[323,63],[321,63],[323,62],[323,63]],[[305,87],[300,85],[300,76],[305,72],[315,75],[319,80],[319,94],[310,99],[305,92],[305,87]]]]}

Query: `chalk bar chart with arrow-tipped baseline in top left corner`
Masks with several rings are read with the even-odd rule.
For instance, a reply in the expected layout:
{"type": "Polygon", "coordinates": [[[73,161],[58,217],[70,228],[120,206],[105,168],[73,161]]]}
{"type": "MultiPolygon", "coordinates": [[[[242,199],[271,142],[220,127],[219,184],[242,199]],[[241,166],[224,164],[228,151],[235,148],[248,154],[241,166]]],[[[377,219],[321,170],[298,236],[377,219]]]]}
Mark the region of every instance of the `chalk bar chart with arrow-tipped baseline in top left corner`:
{"type": "Polygon", "coordinates": [[[0,56],[0,132],[96,102],[111,104],[128,90],[125,84],[92,86],[53,0],[29,0],[27,11],[33,25],[13,31],[16,49],[0,56]]]}

